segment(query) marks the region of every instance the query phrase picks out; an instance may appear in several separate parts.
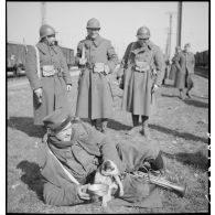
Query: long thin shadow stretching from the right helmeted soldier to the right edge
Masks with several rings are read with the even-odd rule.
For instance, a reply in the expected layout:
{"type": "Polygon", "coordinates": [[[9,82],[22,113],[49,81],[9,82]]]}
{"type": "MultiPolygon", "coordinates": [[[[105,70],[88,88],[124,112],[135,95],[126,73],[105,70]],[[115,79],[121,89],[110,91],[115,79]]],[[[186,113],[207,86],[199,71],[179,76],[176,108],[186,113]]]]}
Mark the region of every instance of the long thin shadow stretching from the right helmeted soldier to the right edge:
{"type": "Polygon", "coordinates": [[[202,137],[197,137],[197,136],[194,136],[192,133],[179,132],[176,130],[172,130],[172,129],[169,129],[169,128],[165,128],[165,127],[162,127],[162,126],[158,126],[158,125],[149,125],[149,127],[151,129],[158,130],[160,132],[164,132],[166,135],[173,135],[173,136],[176,136],[176,137],[180,137],[180,138],[184,138],[186,140],[202,141],[202,142],[205,142],[205,143],[208,142],[208,139],[202,138],[202,137]]]}

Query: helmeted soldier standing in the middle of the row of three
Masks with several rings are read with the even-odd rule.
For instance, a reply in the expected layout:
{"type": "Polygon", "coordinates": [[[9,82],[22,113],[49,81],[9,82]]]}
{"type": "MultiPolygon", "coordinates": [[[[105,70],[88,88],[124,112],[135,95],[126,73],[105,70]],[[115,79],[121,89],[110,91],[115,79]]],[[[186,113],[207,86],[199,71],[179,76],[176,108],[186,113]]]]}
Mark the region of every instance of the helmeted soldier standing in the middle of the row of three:
{"type": "Polygon", "coordinates": [[[110,41],[99,35],[100,23],[93,18],[87,22],[87,36],[77,45],[76,63],[80,72],[76,116],[89,118],[92,125],[106,131],[112,114],[112,93],[108,74],[112,73],[118,57],[110,41]],[[101,128],[98,122],[101,121],[101,128]]]}

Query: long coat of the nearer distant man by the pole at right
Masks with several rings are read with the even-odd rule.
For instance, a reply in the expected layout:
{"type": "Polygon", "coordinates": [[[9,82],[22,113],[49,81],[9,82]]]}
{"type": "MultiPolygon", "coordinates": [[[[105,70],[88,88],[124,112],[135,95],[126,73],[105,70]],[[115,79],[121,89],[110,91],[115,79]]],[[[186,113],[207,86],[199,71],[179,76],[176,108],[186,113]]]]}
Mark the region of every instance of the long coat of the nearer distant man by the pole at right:
{"type": "Polygon", "coordinates": [[[192,76],[195,66],[194,54],[191,52],[181,52],[175,58],[175,66],[178,72],[174,86],[179,89],[183,89],[193,85],[192,76]]]}

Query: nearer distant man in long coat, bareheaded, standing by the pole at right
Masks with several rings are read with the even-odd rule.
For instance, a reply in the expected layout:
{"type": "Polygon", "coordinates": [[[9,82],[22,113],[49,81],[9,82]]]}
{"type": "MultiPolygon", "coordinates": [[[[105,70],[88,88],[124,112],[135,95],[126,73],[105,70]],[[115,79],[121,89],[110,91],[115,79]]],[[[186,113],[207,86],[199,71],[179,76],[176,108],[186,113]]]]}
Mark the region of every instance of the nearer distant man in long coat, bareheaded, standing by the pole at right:
{"type": "Polygon", "coordinates": [[[187,87],[185,95],[191,98],[190,90],[194,87],[193,74],[195,66],[195,57],[190,52],[191,44],[186,43],[184,50],[180,52],[175,58],[175,66],[178,68],[174,86],[180,90],[180,98],[184,99],[183,89],[187,87]]]}

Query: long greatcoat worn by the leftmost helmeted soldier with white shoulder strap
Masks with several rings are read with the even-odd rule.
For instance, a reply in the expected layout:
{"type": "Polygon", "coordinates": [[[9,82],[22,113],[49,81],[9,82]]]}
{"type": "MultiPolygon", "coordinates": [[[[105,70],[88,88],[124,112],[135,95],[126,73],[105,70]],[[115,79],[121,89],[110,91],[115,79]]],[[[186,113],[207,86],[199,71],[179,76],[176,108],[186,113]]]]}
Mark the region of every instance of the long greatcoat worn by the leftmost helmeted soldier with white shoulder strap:
{"type": "Polygon", "coordinates": [[[39,104],[33,93],[34,123],[43,125],[43,118],[58,107],[67,106],[66,84],[72,85],[68,67],[58,46],[47,46],[45,43],[36,44],[40,54],[41,78],[37,75],[36,52],[30,46],[26,54],[25,72],[32,90],[42,87],[42,104],[39,104]],[[54,65],[57,74],[50,77],[42,75],[43,65],[54,65]]]}

